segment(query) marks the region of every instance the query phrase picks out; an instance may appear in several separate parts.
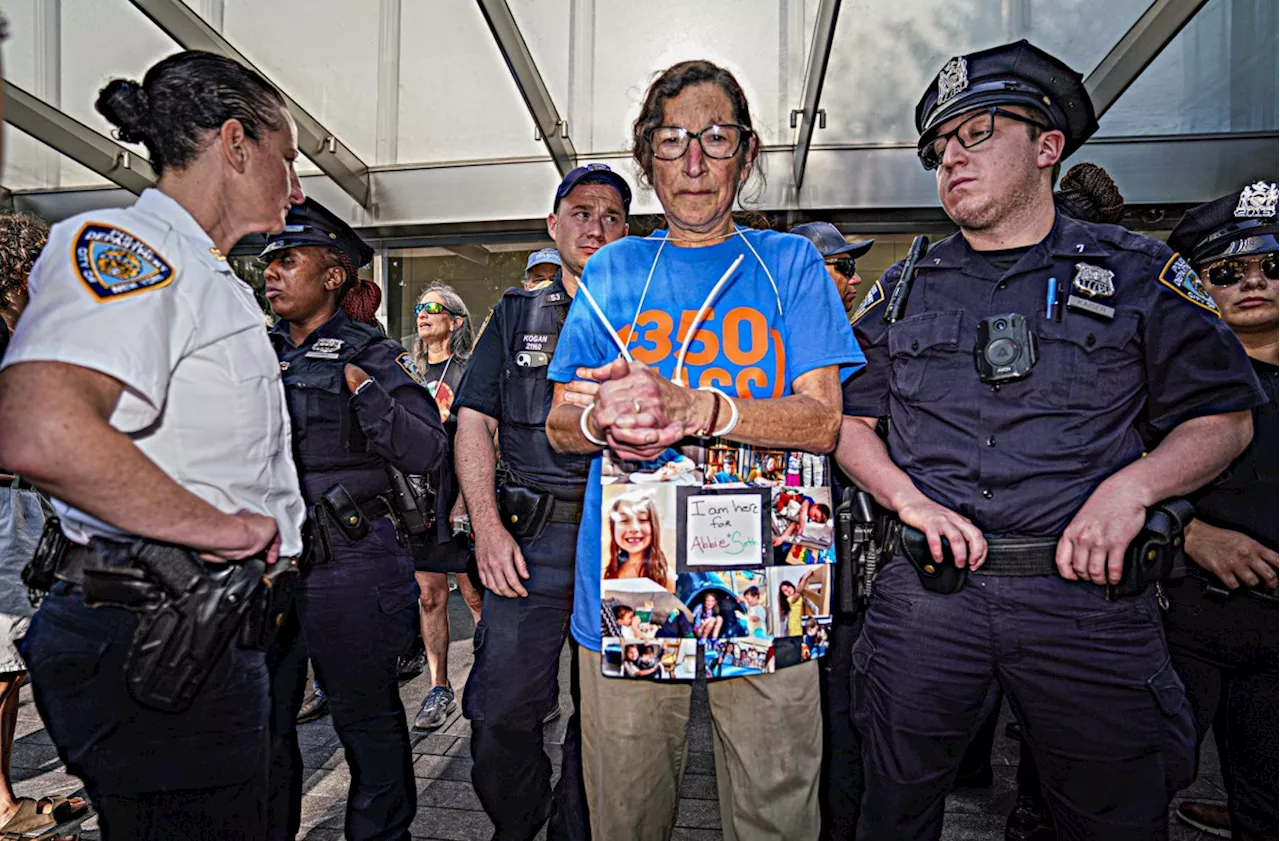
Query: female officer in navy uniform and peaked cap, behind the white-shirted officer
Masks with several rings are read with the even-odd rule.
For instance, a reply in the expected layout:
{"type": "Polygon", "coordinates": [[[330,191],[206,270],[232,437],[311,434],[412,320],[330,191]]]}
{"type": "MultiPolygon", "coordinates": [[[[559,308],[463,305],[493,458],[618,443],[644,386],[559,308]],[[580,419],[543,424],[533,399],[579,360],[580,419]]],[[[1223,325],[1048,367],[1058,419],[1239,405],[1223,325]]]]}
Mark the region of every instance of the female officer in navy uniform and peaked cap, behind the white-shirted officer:
{"type": "Polygon", "coordinates": [[[346,837],[408,838],[416,809],[396,661],[417,627],[417,584],[388,465],[430,474],[448,440],[410,355],[378,325],[378,287],[356,275],[372,256],[314,200],[262,251],[311,543],[273,652],[273,840],[292,841],[301,819],[307,657],[351,767],[346,837]]]}

